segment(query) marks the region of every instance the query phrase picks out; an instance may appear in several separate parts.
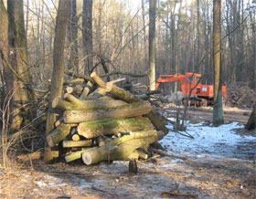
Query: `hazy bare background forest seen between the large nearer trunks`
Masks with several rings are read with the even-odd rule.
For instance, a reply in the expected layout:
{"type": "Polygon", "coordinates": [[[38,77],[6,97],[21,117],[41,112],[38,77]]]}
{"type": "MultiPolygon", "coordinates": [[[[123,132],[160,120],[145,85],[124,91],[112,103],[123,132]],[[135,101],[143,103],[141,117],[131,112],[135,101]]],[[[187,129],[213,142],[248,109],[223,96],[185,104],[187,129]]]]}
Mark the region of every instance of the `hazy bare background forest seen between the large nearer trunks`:
{"type": "MultiPolygon", "coordinates": [[[[87,58],[82,32],[82,1],[69,1],[68,36],[65,43],[66,68],[90,74],[103,61],[111,72],[149,72],[148,2],[95,0],[92,7],[93,51],[87,58]],[[77,35],[73,34],[77,32],[77,35]],[[76,55],[74,56],[73,52],[76,55]],[[93,64],[91,63],[93,59],[93,64]]],[[[157,1],[156,77],[160,74],[212,72],[212,2],[205,0],[157,1]]],[[[45,84],[52,70],[52,51],[58,1],[25,1],[28,60],[34,83],[45,84]]],[[[222,67],[224,84],[246,81],[256,85],[255,1],[222,1],[222,67]]],[[[147,79],[140,79],[147,83],[147,79]]],[[[167,86],[166,86],[167,87],[167,86]]],[[[167,87],[167,89],[170,89],[167,87]]]]}

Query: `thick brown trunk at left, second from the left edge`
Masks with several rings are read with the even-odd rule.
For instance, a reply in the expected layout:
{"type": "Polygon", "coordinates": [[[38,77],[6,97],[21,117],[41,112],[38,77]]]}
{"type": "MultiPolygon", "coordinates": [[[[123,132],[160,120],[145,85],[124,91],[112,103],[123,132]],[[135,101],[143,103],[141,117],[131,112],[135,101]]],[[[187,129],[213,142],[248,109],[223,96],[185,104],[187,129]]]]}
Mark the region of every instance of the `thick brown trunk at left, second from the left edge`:
{"type": "Polygon", "coordinates": [[[34,100],[34,96],[27,60],[27,37],[24,25],[23,0],[8,0],[7,8],[9,16],[9,66],[13,67],[13,72],[16,74],[13,79],[15,110],[12,129],[18,130],[22,124],[19,122],[20,120],[26,124],[33,117],[31,112],[33,109],[29,109],[31,106],[28,104],[34,100]],[[23,109],[20,109],[21,107],[23,109]],[[18,120],[17,123],[16,119],[18,120]]]}

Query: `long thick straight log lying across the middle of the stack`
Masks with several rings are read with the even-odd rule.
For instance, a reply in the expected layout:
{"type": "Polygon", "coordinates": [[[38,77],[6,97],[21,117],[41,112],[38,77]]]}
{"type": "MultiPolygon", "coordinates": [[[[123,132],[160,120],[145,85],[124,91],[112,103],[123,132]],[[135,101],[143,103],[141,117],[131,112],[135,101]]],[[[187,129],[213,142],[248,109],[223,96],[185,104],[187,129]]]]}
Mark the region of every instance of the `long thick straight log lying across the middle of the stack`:
{"type": "Polygon", "coordinates": [[[66,123],[81,123],[106,118],[131,118],[147,114],[150,110],[148,101],[140,101],[105,110],[66,110],[63,118],[66,123]]]}

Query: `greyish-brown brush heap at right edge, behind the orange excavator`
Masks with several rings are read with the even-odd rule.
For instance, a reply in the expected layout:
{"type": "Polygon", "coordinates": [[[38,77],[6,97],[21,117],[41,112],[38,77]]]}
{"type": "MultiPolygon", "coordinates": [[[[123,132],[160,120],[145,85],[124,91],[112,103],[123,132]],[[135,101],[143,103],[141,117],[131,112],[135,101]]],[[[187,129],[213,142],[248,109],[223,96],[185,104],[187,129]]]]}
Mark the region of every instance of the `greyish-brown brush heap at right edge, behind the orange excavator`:
{"type": "Polygon", "coordinates": [[[235,82],[228,86],[226,105],[229,107],[252,108],[256,101],[256,93],[245,82],[235,82]]]}

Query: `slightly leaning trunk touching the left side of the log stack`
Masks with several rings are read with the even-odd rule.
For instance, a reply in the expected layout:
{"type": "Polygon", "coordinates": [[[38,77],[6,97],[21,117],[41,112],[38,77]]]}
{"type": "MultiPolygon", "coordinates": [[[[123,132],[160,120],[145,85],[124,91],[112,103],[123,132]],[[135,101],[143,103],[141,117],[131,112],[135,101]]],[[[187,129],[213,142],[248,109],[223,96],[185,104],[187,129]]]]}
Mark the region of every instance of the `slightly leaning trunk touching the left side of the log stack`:
{"type": "MultiPolygon", "coordinates": [[[[65,0],[59,0],[59,9],[56,19],[54,49],[53,49],[53,73],[51,78],[48,118],[46,133],[52,131],[56,114],[53,112],[51,104],[56,97],[61,97],[64,81],[64,45],[66,37],[66,27],[68,22],[69,4],[65,0]]],[[[44,162],[51,162],[50,149],[45,151],[44,162]]]]}

